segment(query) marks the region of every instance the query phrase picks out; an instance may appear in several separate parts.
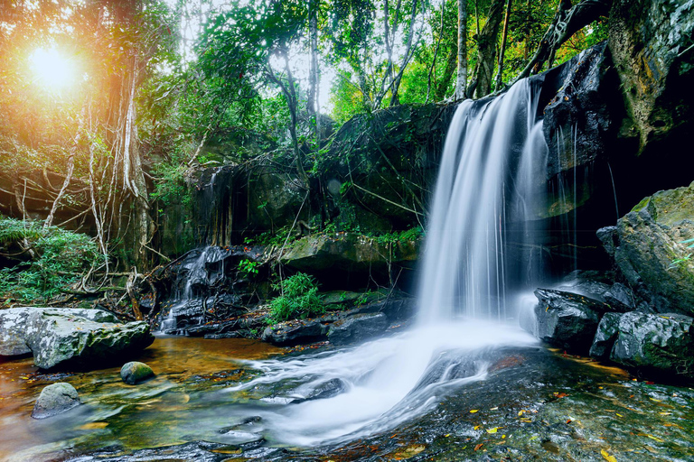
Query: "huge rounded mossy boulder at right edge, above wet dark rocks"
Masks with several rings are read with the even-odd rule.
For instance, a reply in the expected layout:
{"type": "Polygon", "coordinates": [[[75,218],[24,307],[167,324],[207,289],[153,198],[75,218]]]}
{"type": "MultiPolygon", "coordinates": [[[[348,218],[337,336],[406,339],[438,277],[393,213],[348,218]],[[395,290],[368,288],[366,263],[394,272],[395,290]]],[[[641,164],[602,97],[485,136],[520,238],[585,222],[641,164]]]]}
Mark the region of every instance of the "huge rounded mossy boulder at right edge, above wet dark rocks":
{"type": "Polygon", "coordinates": [[[694,238],[694,183],[643,199],[614,233],[614,260],[633,290],[658,312],[694,313],[694,261],[683,243],[694,238]]]}

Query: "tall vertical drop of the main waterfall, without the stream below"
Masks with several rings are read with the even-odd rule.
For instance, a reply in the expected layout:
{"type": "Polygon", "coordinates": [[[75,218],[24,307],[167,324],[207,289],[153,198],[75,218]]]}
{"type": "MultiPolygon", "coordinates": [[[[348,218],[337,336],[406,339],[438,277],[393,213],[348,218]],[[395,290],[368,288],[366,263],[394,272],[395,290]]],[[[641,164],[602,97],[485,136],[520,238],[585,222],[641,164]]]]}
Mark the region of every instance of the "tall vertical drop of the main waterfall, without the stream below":
{"type": "Polygon", "coordinates": [[[427,227],[420,322],[505,320],[513,316],[509,291],[539,277],[533,220],[548,148],[538,94],[525,79],[500,97],[458,106],[427,227]]]}

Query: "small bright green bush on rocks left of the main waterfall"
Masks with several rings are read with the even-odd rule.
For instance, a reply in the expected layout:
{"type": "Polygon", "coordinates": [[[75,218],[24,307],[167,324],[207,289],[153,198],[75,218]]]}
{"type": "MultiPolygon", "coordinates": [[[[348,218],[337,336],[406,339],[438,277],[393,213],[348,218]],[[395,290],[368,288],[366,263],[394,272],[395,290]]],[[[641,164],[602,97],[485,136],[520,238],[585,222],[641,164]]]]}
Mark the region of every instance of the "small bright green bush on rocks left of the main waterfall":
{"type": "Polygon", "coordinates": [[[325,306],[318,297],[318,284],[308,274],[296,273],[274,284],[273,288],[281,294],[270,301],[270,324],[318,316],[325,312],[325,306]]]}

